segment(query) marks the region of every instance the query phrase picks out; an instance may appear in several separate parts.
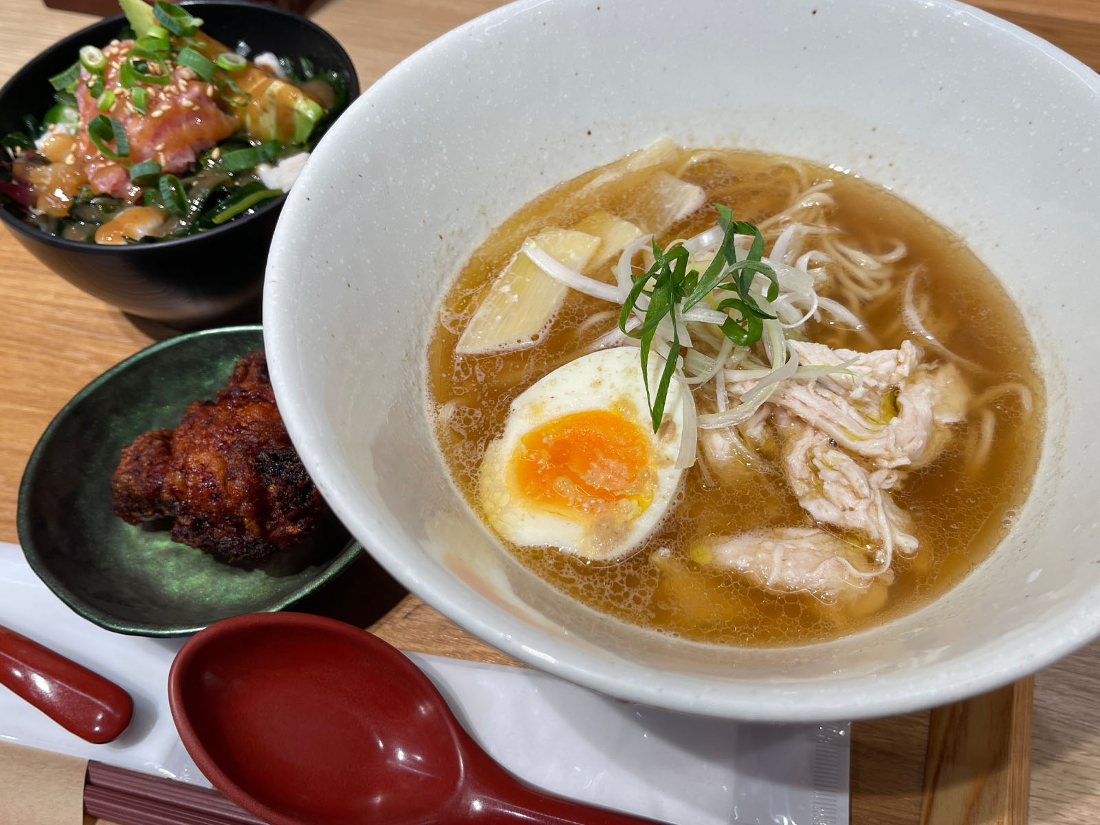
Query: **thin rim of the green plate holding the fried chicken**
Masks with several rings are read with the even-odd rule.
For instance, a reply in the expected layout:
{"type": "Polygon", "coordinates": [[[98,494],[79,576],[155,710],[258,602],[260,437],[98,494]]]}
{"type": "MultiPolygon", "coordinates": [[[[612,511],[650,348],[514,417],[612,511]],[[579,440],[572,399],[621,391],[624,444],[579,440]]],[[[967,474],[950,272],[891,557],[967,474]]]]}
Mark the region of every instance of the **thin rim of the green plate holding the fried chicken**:
{"type": "MultiPolygon", "coordinates": [[[[43,460],[43,454],[45,453],[50,442],[55,438],[56,431],[61,428],[65,419],[73,414],[73,410],[87,398],[98,393],[100,388],[110,384],[117,375],[125,372],[133,364],[151,355],[161,353],[164,350],[170,350],[179,345],[187,346],[199,338],[239,333],[257,333],[262,336],[263,327],[258,323],[248,323],[235,327],[218,327],[213,329],[186,332],[184,334],[173,336],[172,338],[166,338],[163,341],[152,343],[129,358],[123,359],[107,371],[97,375],[84,387],[81,387],[76,395],[66,402],[65,406],[62,407],[61,410],[58,410],[57,414],[51,419],[46,429],[42,432],[42,436],[38,437],[34,449],[31,451],[31,455],[23,469],[22,479],[20,480],[15,510],[15,528],[19,535],[19,544],[23,552],[23,558],[26,559],[26,563],[34,574],[37,575],[38,579],[41,579],[42,582],[54,593],[54,595],[64,602],[67,607],[69,607],[77,615],[99,625],[100,627],[130,636],[165,638],[173,636],[186,636],[197,632],[205,627],[208,627],[215,622],[215,619],[211,619],[211,622],[207,624],[176,624],[157,626],[139,625],[134,622],[121,622],[110,613],[89,604],[80,595],[67,587],[61,579],[54,574],[54,571],[48,565],[43,563],[41,553],[38,552],[35,541],[32,538],[30,522],[30,513],[33,506],[31,488],[33,486],[34,477],[37,474],[38,464],[43,460]]],[[[354,561],[361,550],[362,547],[359,542],[354,538],[350,538],[344,547],[338,553],[332,556],[328,565],[319,571],[316,578],[305,582],[302,586],[298,587],[294,592],[286,594],[275,602],[272,602],[263,608],[263,612],[274,613],[283,610],[298,600],[314,592],[343,572],[343,570],[351,564],[352,561],[354,561]]],[[[258,610],[255,608],[250,610],[250,613],[256,612],[258,610]]]]}

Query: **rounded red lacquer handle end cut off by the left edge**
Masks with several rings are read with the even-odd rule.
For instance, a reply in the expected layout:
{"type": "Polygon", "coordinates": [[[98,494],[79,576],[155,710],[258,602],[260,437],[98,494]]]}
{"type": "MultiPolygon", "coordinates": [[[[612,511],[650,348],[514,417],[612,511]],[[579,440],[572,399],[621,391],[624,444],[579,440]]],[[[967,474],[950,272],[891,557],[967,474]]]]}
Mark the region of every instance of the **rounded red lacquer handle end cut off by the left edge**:
{"type": "Polygon", "coordinates": [[[97,745],[119,736],[133,715],[133,701],[114,682],[6,627],[0,627],[0,684],[97,745]]]}

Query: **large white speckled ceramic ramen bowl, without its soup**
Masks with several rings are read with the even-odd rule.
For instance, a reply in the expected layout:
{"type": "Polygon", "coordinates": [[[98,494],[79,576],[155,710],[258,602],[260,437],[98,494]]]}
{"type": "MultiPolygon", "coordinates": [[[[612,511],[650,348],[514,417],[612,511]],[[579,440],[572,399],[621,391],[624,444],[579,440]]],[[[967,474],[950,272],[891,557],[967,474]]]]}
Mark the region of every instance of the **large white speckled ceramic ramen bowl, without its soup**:
{"type": "Polygon", "coordinates": [[[524,0],[403,62],[340,118],[271,249],[264,330],[324,497],[403,584],[512,656],[625,700],[810,721],[993,689],[1100,632],[1100,77],[947,0],[524,0]],[[796,155],[960,235],[1023,309],[1046,381],[1009,537],[911,615],[825,644],[714,648],[627,627],[515,562],[452,486],[425,345],[486,233],[669,135],[796,155]]]}

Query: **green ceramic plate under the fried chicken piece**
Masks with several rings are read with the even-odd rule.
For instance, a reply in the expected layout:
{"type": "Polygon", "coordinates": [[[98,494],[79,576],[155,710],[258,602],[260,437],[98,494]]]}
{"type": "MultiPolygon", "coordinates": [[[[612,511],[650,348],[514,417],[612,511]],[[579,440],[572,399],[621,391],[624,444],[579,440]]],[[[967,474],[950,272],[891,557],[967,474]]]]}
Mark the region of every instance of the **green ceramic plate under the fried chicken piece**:
{"type": "Polygon", "coordinates": [[[334,527],[312,547],[251,569],[178,544],[163,525],[111,508],[111,474],[139,433],[175,427],[212,399],[233,364],[263,348],[258,326],[179,336],[142,350],[76,394],[38,440],[19,491],[19,540],[35,573],[78,614],[111,630],[182,636],[229,616],[282,609],[359,552],[334,527]]]}

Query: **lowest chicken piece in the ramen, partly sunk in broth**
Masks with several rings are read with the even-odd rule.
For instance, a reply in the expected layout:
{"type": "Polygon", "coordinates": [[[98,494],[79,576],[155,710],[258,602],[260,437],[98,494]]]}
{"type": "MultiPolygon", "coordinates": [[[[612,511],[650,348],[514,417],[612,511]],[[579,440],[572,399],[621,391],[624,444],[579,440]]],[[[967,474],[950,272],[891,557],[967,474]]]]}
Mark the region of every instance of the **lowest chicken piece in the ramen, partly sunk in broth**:
{"type": "Polygon", "coordinates": [[[823,601],[861,595],[878,575],[867,551],[817,527],[774,527],[715,536],[692,549],[708,566],[725,568],[773,593],[810,593],[823,601]]]}

